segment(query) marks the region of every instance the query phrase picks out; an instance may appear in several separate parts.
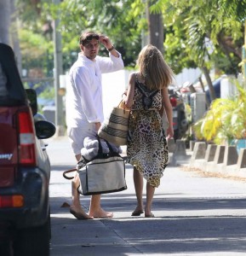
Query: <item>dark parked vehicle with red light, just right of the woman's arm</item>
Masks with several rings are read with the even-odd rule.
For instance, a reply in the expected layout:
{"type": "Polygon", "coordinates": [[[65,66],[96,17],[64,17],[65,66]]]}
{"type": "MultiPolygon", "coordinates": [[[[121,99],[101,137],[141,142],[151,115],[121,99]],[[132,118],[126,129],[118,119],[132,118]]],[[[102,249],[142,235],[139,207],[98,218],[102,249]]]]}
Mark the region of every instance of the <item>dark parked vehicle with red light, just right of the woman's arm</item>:
{"type": "Polygon", "coordinates": [[[189,128],[186,119],[186,105],[178,90],[169,87],[169,99],[173,107],[174,141],[181,139],[189,128]]]}

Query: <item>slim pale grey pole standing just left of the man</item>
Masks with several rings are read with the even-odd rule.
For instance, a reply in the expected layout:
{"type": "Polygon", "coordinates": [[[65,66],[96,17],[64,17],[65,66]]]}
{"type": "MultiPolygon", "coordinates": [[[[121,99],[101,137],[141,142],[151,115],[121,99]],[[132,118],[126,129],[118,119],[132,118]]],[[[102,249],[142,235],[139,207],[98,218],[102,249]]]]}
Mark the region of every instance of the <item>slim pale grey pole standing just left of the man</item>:
{"type": "MultiPolygon", "coordinates": [[[[53,0],[54,4],[60,4],[60,0],[53,0]]],[[[62,96],[60,96],[60,75],[62,70],[62,53],[61,53],[61,35],[57,29],[60,19],[54,20],[54,92],[55,92],[55,113],[54,121],[56,126],[56,135],[64,135],[64,111],[62,96]]]]}

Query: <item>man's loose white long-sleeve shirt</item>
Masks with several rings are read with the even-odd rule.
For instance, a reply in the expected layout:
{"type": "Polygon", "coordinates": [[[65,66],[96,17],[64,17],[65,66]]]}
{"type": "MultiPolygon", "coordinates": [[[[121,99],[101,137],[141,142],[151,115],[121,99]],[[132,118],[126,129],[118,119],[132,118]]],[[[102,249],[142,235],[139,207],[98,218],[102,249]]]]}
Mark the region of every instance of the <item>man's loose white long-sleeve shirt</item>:
{"type": "Polygon", "coordinates": [[[102,122],[101,73],[123,69],[121,55],[96,56],[89,60],[82,53],[70,69],[70,84],[66,87],[66,125],[83,127],[88,123],[102,122]]]}

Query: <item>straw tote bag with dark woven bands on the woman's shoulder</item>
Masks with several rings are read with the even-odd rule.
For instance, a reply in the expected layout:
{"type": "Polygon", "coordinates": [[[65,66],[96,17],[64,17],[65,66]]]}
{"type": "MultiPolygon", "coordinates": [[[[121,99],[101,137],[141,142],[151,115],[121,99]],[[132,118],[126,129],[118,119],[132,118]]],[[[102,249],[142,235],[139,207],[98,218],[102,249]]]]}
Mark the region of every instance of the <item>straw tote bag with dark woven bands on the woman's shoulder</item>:
{"type": "Polygon", "coordinates": [[[112,113],[107,117],[98,131],[99,137],[116,146],[127,144],[129,129],[129,108],[125,108],[123,101],[112,108],[112,113]]]}

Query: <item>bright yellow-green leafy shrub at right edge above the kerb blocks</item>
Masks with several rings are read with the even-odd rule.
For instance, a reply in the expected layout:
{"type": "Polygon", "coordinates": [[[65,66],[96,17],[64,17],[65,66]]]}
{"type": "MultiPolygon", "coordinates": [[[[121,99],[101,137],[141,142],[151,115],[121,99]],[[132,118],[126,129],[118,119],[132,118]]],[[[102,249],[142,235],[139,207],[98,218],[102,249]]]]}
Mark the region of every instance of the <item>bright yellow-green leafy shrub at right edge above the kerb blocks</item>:
{"type": "Polygon", "coordinates": [[[235,82],[237,96],[216,99],[203,119],[193,126],[197,139],[217,144],[246,137],[246,90],[235,82]]]}

